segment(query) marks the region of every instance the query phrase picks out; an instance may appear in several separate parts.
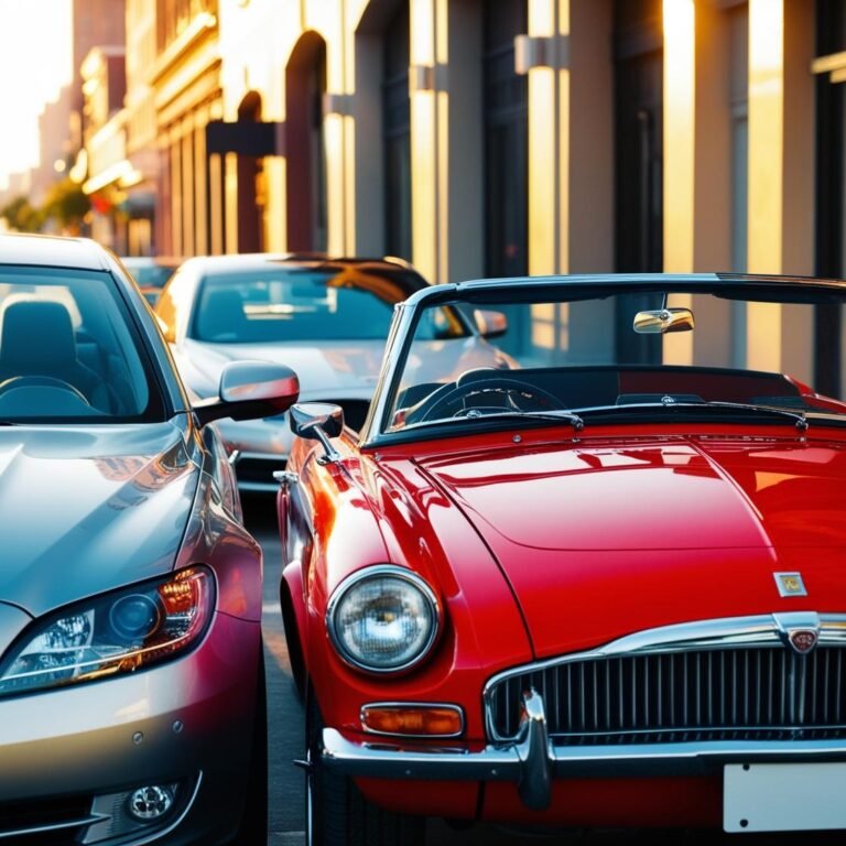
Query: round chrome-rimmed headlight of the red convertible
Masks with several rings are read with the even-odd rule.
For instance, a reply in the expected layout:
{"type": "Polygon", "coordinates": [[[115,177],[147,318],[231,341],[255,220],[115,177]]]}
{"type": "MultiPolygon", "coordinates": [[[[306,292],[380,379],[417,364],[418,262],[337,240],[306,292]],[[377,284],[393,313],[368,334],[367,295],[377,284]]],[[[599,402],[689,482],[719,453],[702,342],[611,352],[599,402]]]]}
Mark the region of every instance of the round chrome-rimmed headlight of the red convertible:
{"type": "Polygon", "coordinates": [[[338,654],[361,670],[391,673],[425,658],[437,637],[441,610],[422,578],[379,565],[354,573],[329,600],[326,622],[338,654]]]}

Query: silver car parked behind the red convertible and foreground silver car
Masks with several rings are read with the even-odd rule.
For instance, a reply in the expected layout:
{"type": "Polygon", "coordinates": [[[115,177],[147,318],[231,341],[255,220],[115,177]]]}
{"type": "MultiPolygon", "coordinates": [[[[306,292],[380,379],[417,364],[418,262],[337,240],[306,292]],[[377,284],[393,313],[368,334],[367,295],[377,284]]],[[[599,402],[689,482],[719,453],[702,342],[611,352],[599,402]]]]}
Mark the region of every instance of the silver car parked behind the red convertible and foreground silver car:
{"type": "MultiPolygon", "coordinates": [[[[337,259],[252,253],[187,259],[155,313],[188,388],[216,390],[221,369],[241,358],[288,365],[303,399],[344,408],[359,427],[376,386],[394,305],[426,281],[399,259],[337,259]]],[[[430,332],[467,335],[480,364],[496,355],[458,313],[437,313],[430,332]]],[[[220,436],[237,459],[241,490],[276,490],[292,434],[284,414],[221,421],[220,436]]]]}

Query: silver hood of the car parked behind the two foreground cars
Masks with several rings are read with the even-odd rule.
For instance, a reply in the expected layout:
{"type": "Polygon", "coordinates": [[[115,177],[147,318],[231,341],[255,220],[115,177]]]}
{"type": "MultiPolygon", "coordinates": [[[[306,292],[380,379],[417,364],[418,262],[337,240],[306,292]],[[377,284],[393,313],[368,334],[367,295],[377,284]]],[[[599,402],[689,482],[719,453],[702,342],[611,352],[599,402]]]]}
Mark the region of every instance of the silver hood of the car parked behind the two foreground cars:
{"type": "MultiPolygon", "coordinates": [[[[376,387],[384,351],[383,340],[335,340],[316,344],[203,344],[185,340],[177,355],[180,370],[217,390],[220,371],[229,361],[258,359],[290,367],[300,378],[302,399],[369,398],[376,387]],[[180,361],[182,359],[184,361],[180,361]]],[[[202,388],[192,384],[194,390],[202,388]]]]}

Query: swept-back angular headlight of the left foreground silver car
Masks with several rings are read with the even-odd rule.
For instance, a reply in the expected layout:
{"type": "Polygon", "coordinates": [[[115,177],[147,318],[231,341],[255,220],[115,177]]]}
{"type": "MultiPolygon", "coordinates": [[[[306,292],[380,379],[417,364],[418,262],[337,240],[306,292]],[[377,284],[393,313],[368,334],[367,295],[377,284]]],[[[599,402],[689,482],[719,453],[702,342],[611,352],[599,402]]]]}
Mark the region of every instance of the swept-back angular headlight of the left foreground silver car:
{"type": "Polygon", "coordinates": [[[189,649],[215,607],[212,574],[189,567],[36,620],[0,666],[0,695],[131,672],[189,649]]]}

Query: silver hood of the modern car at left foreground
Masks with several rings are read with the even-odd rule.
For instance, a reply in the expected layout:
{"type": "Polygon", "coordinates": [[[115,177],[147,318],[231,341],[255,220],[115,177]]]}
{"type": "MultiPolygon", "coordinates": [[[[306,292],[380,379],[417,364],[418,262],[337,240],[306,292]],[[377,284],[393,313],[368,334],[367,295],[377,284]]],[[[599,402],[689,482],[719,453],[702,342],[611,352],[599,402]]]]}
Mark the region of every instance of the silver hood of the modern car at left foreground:
{"type": "Polygon", "coordinates": [[[170,423],[0,430],[0,604],[37,616],[167,572],[198,475],[170,423]]]}

